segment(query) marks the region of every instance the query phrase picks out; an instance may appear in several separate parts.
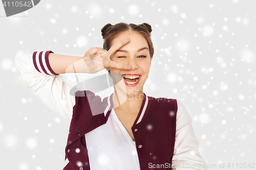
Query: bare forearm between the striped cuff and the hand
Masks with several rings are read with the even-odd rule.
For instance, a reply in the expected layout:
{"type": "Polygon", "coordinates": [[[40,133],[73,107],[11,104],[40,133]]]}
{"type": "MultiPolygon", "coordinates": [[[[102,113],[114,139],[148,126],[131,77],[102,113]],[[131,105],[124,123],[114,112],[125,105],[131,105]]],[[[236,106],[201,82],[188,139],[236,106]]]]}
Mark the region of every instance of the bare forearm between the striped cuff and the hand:
{"type": "Polygon", "coordinates": [[[82,57],[50,53],[49,63],[56,74],[88,72],[82,57]]]}

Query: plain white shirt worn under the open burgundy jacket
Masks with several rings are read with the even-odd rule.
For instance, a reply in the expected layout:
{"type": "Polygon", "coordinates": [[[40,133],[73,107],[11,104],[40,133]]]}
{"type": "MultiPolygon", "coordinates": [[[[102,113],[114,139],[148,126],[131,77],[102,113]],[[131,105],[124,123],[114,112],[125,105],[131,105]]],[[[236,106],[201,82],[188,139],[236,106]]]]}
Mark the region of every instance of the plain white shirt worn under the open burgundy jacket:
{"type": "Polygon", "coordinates": [[[140,169],[135,141],[120,122],[114,109],[111,110],[106,124],[85,136],[91,170],[140,169]]]}

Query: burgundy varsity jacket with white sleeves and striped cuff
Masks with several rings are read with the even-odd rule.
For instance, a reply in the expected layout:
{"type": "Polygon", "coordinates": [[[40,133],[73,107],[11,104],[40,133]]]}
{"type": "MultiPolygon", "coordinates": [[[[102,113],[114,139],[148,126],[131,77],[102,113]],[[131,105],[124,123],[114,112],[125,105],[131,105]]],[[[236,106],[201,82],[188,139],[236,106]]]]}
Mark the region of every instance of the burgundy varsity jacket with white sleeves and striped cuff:
{"type": "MultiPolygon", "coordinates": [[[[70,123],[65,150],[65,159],[69,163],[64,170],[90,169],[84,135],[108,121],[113,108],[113,93],[103,100],[90,90],[76,91],[75,95],[70,95],[73,87],[63,81],[61,75],[53,72],[48,59],[49,53],[53,52],[16,54],[15,68],[28,88],[70,123]],[[77,148],[80,149],[79,153],[75,152],[77,148]]],[[[179,100],[154,98],[143,93],[143,102],[132,127],[140,168],[207,169],[198,151],[199,142],[191,120],[179,100]],[[147,125],[154,128],[148,131],[147,125]],[[181,166],[184,163],[200,166],[181,166]],[[158,165],[164,167],[159,168],[158,165]]]]}

